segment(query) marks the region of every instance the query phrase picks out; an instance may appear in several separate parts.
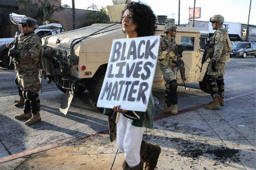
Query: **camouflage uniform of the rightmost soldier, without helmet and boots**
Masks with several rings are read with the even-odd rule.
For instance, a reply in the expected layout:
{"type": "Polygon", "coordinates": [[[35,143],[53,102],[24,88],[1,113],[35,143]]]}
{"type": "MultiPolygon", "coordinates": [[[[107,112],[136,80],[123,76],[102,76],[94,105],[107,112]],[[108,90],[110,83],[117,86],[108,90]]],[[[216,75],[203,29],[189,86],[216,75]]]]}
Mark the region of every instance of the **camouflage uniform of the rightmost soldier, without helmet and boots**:
{"type": "Polygon", "coordinates": [[[213,98],[225,97],[225,64],[226,62],[230,61],[229,51],[232,51],[232,46],[230,47],[229,43],[230,40],[228,33],[222,26],[217,28],[213,34],[213,37],[210,39],[210,47],[212,48],[210,48],[207,53],[207,57],[210,57],[209,66],[207,68],[207,75],[208,84],[210,86],[210,93],[213,98]],[[213,71],[212,69],[212,64],[214,61],[216,61],[216,71],[213,71]]]}

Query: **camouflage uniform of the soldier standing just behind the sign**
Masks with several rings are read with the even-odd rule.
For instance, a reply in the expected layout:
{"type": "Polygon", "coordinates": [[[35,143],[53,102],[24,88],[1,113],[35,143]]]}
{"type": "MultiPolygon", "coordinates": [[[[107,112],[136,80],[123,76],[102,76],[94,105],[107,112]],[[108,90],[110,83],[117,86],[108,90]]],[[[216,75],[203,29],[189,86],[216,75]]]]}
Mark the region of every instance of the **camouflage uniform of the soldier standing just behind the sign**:
{"type": "Polygon", "coordinates": [[[167,106],[170,107],[171,104],[177,104],[178,99],[177,99],[177,91],[172,91],[170,90],[170,82],[172,80],[176,80],[177,76],[177,71],[173,72],[172,68],[176,67],[176,64],[172,62],[172,60],[177,60],[178,58],[174,54],[174,51],[171,51],[167,54],[165,54],[165,51],[167,50],[167,47],[171,45],[177,45],[174,38],[169,40],[167,36],[164,38],[161,38],[160,40],[160,47],[159,47],[159,52],[158,52],[158,60],[159,60],[159,65],[160,69],[163,74],[164,81],[166,82],[166,91],[164,94],[165,98],[165,103],[167,103],[167,106]]]}

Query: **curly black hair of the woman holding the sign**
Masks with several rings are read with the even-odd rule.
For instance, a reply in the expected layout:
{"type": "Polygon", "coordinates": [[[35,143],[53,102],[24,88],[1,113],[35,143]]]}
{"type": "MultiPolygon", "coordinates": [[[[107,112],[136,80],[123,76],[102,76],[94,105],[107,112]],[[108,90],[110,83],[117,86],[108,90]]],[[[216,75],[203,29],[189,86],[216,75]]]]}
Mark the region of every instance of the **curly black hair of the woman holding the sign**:
{"type": "Polygon", "coordinates": [[[147,5],[142,4],[140,1],[128,3],[122,11],[121,23],[126,9],[130,10],[132,19],[134,23],[137,24],[136,31],[138,33],[138,37],[155,34],[155,30],[157,28],[157,26],[155,26],[156,16],[147,5]]]}

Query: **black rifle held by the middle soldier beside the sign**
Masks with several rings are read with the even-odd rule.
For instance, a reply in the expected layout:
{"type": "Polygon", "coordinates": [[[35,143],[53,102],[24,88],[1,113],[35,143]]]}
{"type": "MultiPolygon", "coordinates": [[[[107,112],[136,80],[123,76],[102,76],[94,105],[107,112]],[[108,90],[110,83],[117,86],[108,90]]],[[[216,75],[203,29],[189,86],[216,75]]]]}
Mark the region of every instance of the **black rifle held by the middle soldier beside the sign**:
{"type": "Polygon", "coordinates": [[[172,71],[173,72],[175,72],[177,70],[180,71],[181,79],[182,79],[184,87],[186,89],[186,86],[185,86],[185,81],[186,81],[186,78],[185,78],[185,63],[184,63],[183,59],[181,59],[181,56],[180,56],[180,54],[183,52],[182,45],[179,45],[178,47],[176,46],[173,51],[174,51],[174,54],[178,57],[178,59],[177,59],[177,61],[172,60],[172,62],[177,65],[176,67],[172,68],[172,71]]]}

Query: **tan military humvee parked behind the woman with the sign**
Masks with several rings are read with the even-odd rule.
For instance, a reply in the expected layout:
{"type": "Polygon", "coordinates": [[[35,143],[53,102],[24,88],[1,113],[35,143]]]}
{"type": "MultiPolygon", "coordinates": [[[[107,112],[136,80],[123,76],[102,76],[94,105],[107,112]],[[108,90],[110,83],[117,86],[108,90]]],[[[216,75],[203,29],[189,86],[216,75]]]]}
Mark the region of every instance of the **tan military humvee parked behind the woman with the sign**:
{"type": "MultiPolygon", "coordinates": [[[[107,6],[111,22],[114,24],[93,24],[73,31],[50,35],[42,38],[44,56],[42,58],[43,78],[49,83],[56,83],[65,92],[60,111],[67,113],[73,94],[89,91],[91,104],[97,107],[97,100],[104,80],[112,40],[126,38],[120,24],[123,5],[107,6]]],[[[156,35],[163,33],[164,24],[156,24],[156,35]]],[[[185,83],[201,82],[201,89],[205,90],[204,80],[208,63],[203,65],[200,72],[203,52],[200,51],[200,31],[198,28],[178,27],[176,42],[184,47],[183,60],[185,62],[185,83]],[[204,81],[203,81],[204,80],[204,81]]],[[[178,83],[182,83],[177,74],[178,83]]],[[[152,87],[162,87],[165,82],[162,71],[157,67],[152,87]]],[[[101,108],[98,108],[101,110],[101,108]]]]}

